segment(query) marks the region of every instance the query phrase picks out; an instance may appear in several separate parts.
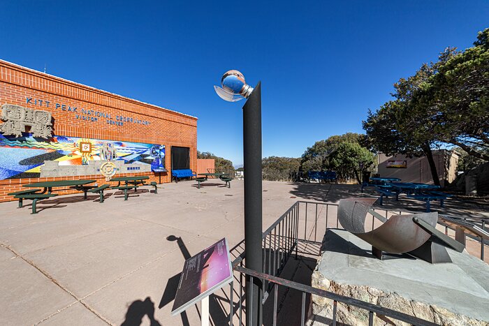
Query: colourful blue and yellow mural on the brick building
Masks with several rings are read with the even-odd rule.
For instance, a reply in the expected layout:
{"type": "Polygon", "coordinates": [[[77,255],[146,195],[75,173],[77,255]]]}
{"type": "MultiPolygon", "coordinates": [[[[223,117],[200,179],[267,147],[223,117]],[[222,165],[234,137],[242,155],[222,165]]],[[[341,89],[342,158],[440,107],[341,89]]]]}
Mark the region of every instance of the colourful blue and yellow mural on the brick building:
{"type": "MultiPolygon", "coordinates": [[[[45,161],[64,165],[89,165],[89,161],[115,161],[136,166],[145,165],[152,171],[165,170],[165,145],[140,142],[117,142],[54,136],[45,140],[0,135],[0,179],[38,178],[45,161]]],[[[145,169],[146,170],[146,169],[145,169]]],[[[147,169],[149,170],[149,169],[147,169]]]]}

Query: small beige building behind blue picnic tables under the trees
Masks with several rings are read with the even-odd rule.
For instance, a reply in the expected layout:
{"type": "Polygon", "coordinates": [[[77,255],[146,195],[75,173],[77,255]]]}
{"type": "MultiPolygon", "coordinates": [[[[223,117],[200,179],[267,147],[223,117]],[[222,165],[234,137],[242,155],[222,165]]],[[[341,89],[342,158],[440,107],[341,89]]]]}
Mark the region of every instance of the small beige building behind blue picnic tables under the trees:
{"type": "MultiPolygon", "coordinates": [[[[439,149],[433,151],[441,186],[450,183],[457,177],[457,165],[460,155],[456,151],[439,149]]],[[[381,177],[395,177],[403,182],[433,184],[433,178],[426,156],[407,157],[402,154],[387,156],[377,153],[377,172],[381,177]]]]}

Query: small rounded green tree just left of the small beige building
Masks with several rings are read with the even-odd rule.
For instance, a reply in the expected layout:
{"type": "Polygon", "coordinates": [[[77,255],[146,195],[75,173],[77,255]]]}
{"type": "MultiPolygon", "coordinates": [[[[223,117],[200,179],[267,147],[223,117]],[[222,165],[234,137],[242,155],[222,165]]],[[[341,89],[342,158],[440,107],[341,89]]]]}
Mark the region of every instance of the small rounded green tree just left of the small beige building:
{"type": "Polygon", "coordinates": [[[346,179],[353,174],[360,184],[360,171],[368,170],[374,165],[374,154],[358,142],[340,142],[337,149],[330,154],[330,168],[340,178],[346,179]]]}

